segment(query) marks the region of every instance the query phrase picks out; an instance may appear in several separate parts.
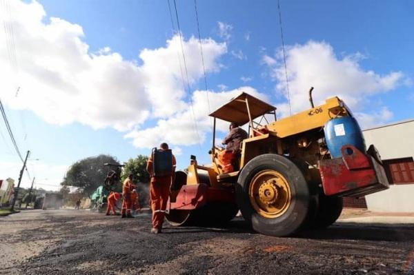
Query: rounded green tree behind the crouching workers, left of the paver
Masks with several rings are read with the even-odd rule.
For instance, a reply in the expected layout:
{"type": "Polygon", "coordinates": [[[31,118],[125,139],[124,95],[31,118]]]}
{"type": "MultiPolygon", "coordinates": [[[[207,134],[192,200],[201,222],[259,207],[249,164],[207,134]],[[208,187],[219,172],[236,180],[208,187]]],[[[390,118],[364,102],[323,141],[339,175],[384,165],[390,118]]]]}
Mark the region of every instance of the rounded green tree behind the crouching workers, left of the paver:
{"type": "Polygon", "coordinates": [[[110,167],[103,165],[104,163],[119,164],[113,156],[105,154],[81,159],[70,166],[61,185],[79,187],[83,194],[90,196],[103,184],[110,171],[110,167]]]}

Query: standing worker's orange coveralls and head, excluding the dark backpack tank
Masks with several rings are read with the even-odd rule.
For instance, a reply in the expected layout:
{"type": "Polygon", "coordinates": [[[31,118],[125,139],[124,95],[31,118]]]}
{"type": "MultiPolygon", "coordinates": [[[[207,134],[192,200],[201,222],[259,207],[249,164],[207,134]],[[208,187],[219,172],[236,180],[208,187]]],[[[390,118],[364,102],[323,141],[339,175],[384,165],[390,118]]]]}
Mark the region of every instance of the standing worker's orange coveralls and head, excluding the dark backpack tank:
{"type": "MultiPolygon", "coordinates": [[[[161,150],[168,150],[167,143],[159,145],[161,150]]],[[[161,233],[162,223],[166,215],[168,196],[170,195],[170,186],[172,183],[172,175],[175,173],[177,161],[172,155],[172,174],[169,176],[154,176],[154,165],[152,155],[148,159],[147,171],[150,173],[150,201],[152,209],[152,229],[151,233],[161,233]]]]}

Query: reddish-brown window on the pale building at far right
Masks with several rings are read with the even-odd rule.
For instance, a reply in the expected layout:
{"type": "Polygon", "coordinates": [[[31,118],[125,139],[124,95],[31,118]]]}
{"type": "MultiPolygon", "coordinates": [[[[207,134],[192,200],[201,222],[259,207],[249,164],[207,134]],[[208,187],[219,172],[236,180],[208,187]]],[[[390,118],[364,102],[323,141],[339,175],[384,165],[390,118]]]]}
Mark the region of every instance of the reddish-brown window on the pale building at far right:
{"type": "Polygon", "coordinates": [[[414,183],[414,161],[412,157],[383,161],[388,181],[392,184],[414,183]]]}

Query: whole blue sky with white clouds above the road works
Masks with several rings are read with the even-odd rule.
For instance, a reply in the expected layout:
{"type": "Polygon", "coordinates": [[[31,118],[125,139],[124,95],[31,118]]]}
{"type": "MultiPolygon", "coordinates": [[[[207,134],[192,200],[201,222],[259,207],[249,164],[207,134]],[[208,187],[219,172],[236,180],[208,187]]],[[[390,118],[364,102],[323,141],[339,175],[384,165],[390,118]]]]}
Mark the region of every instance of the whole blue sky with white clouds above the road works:
{"type": "MultiPolygon", "coordinates": [[[[38,187],[55,188],[66,167],[87,156],[126,161],[149,154],[166,132],[179,167],[190,154],[208,163],[210,121],[193,0],[177,1],[190,90],[182,87],[178,65],[184,63],[167,0],[6,2],[3,24],[13,31],[0,37],[0,72],[10,75],[0,96],[21,151],[32,151],[29,170],[38,187]]],[[[413,118],[412,1],[280,4],[294,112],[308,108],[313,85],[317,102],[342,96],[363,127],[413,118]]],[[[199,0],[197,8],[211,105],[247,90],[288,114],[277,1],[199,0]]],[[[21,163],[0,125],[0,177],[17,179],[21,163]]]]}

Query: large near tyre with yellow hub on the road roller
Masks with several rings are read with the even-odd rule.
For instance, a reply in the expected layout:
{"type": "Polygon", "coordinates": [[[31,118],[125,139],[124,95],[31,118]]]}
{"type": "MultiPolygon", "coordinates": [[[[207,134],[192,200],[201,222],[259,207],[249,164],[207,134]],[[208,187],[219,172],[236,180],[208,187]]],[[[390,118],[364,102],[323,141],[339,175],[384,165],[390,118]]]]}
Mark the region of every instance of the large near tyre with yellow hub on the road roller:
{"type": "Polygon", "coordinates": [[[301,168],[284,156],[263,154],[249,161],[236,191],[244,218],[262,234],[294,234],[315,214],[313,188],[301,168]]]}

